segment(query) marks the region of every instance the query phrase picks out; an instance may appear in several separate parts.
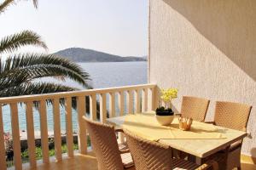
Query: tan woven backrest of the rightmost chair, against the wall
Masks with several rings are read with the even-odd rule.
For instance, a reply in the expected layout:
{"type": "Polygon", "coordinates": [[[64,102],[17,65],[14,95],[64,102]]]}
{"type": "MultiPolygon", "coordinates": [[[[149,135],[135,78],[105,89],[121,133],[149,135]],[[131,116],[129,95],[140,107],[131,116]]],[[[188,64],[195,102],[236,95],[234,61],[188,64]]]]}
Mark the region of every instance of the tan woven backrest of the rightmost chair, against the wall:
{"type": "Polygon", "coordinates": [[[246,131],[251,105],[217,101],[214,122],[221,127],[246,131]]]}

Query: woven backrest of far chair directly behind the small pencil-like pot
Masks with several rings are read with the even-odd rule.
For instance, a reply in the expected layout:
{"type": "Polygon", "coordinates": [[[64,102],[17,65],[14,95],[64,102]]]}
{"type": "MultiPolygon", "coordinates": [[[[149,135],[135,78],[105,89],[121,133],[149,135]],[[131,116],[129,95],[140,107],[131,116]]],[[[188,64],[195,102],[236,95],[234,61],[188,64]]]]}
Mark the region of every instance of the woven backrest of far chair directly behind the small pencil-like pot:
{"type": "Polygon", "coordinates": [[[184,117],[191,117],[195,121],[204,122],[210,100],[192,96],[183,96],[181,114],[184,117]]]}

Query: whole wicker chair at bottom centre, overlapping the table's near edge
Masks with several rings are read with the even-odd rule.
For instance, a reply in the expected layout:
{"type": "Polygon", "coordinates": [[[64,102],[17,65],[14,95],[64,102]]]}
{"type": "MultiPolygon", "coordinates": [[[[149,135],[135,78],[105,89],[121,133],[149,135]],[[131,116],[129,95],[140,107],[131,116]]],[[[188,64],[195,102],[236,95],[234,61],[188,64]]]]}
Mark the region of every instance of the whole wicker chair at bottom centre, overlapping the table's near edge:
{"type": "Polygon", "coordinates": [[[207,161],[202,166],[183,159],[173,159],[172,149],[164,144],[142,139],[125,131],[131,156],[137,170],[170,170],[170,169],[218,169],[216,161],[207,161]]]}

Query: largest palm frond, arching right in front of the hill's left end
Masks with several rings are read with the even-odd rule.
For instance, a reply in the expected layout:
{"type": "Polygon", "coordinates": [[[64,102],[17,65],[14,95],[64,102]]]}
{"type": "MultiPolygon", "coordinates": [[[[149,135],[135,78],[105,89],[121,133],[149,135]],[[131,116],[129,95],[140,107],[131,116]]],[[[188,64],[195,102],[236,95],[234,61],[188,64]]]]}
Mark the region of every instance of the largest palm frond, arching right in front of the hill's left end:
{"type": "Polygon", "coordinates": [[[51,54],[18,54],[5,62],[0,59],[0,89],[43,77],[69,78],[84,88],[91,88],[89,74],[68,59],[51,54]]]}

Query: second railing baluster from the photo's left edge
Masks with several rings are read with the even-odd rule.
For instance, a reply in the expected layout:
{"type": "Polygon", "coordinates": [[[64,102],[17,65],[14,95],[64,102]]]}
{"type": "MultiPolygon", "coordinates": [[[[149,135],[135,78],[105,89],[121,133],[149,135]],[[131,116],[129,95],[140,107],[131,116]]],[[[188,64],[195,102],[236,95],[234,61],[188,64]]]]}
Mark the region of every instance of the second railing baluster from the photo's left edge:
{"type": "Polygon", "coordinates": [[[15,169],[22,169],[21,153],[20,153],[20,128],[17,103],[10,104],[11,106],[11,122],[12,122],[12,135],[13,147],[15,158],[15,169]]]}

